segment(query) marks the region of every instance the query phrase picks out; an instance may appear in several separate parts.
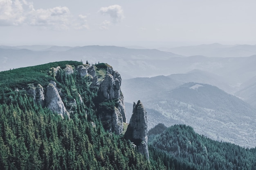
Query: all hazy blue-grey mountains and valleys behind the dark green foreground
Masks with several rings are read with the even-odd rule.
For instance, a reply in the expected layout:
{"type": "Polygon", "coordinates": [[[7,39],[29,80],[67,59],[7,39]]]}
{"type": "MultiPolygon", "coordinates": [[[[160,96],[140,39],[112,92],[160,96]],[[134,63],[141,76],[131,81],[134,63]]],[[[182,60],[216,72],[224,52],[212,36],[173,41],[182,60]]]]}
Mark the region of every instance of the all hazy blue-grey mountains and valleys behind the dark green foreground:
{"type": "Polygon", "coordinates": [[[0,46],[0,71],[61,60],[109,63],[122,76],[125,101],[140,99],[150,109],[150,120],[155,121],[149,122],[149,127],[159,122],[166,126],[188,124],[213,139],[256,146],[254,46],[210,44],[168,52],[139,48],[0,46]]]}

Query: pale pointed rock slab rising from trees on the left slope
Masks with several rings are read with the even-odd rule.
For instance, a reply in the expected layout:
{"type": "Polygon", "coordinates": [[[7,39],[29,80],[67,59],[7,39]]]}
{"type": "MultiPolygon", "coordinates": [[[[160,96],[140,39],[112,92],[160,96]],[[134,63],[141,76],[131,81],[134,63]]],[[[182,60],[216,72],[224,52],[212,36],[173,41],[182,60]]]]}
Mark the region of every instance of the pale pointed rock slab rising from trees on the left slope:
{"type": "Polygon", "coordinates": [[[61,100],[61,96],[58,94],[58,90],[51,83],[47,86],[46,89],[45,104],[46,107],[60,114],[62,118],[63,115],[67,115],[70,118],[70,114],[67,112],[67,109],[61,100]]]}

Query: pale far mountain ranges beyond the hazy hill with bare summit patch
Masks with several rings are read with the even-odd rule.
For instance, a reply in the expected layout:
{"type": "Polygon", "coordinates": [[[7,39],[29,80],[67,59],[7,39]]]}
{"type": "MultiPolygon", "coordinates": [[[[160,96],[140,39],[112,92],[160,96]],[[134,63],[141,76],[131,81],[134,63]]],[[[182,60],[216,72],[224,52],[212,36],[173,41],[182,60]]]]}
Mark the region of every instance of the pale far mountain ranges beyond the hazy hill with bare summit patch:
{"type": "MultiPolygon", "coordinates": [[[[249,45],[223,46],[221,44],[210,44],[201,45],[200,47],[209,52],[217,48],[231,51],[238,49],[238,47],[239,49],[243,47],[243,49],[249,51],[254,49],[254,46],[249,45]]],[[[133,48],[139,47],[0,46],[0,71],[60,60],[76,60],[84,63],[88,61],[90,64],[101,61],[111,63],[122,75],[123,82],[127,82],[124,79],[128,78],[151,77],[138,78],[133,83],[133,80],[130,79],[128,83],[130,87],[137,83],[137,85],[144,87],[148,94],[157,92],[157,88],[173,89],[183,83],[197,82],[217,86],[225,92],[235,94],[248,103],[256,105],[254,100],[256,90],[253,86],[253,84],[256,84],[256,80],[253,78],[256,75],[256,55],[250,57],[234,55],[232,58],[200,55],[184,57],[156,49],[133,48]],[[159,75],[165,75],[168,78],[159,75]],[[249,84],[252,87],[247,85],[248,82],[251,82],[249,84]],[[154,88],[150,90],[151,87],[154,88]]],[[[182,51],[186,50],[183,49],[182,51]]],[[[125,83],[123,86],[126,86],[125,83]]],[[[139,97],[141,96],[139,94],[143,93],[142,91],[135,91],[136,88],[130,92],[130,94],[134,94],[134,97],[139,97]]],[[[126,101],[134,101],[130,96],[126,95],[126,101]]],[[[139,98],[142,100],[142,97],[139,98]]]]}

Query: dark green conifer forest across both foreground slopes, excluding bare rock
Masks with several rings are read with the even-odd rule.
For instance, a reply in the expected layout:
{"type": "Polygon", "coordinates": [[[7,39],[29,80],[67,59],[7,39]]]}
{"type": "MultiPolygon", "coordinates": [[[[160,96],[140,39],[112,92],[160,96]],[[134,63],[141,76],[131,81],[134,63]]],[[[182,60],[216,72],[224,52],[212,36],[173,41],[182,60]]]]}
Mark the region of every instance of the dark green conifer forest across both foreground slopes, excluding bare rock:
{"type": "Polygon", "coordinates": [[[150,130],[149,159],[141,155],[124,139],[125,122],[123,133],[117,135],[108,126],[111,122],[101,119],[119,105],[102,98],[97,86],[109,77],[110,68],[104,63],[61,61],[0,72],[0,170],[256,168],[255,148],[216,142],[185,125],[166,129],[161,124],[150,130]],[[97,78],[81,74],[79,65],[95,69],[97,78]],[[49,87],[58,90],[69,114],[42,102],[40,92],[47,93],[49,87]]]}

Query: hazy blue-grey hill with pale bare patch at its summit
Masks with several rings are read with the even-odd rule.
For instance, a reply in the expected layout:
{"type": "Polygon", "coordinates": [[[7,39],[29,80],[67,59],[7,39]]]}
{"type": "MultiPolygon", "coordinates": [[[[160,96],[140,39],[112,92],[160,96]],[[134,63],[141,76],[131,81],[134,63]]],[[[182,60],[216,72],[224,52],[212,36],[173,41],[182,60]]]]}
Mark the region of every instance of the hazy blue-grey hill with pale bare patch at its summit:
{"type": "Polygon", "coordinates": [[[211,139],[245,147],[256,146],[255,109],[217,87],[186,83],[171,91],[163,91],[154,97],[154,100],[147,101],[144,105],[146,108],[162,113],[164,118],[157,123],[164,123],[167,126],[187,124],[197,133],[211,139]]]}

